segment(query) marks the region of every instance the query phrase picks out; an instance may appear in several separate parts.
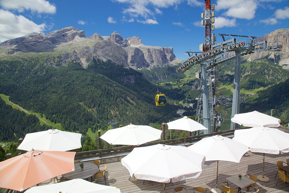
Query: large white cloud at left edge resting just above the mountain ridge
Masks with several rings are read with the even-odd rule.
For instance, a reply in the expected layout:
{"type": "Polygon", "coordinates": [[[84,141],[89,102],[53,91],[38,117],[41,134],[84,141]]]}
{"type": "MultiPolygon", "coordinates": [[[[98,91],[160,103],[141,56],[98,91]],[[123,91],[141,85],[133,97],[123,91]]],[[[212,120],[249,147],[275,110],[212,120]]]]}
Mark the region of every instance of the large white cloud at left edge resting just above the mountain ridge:
{"type": "Polygon", "coordinates": [[[2,9],[0,9],[0,26],[0,42],[32,32],[43,32],[47,28],[45,23],[38,25],[23,15],[15,15],[2,9]]]}

